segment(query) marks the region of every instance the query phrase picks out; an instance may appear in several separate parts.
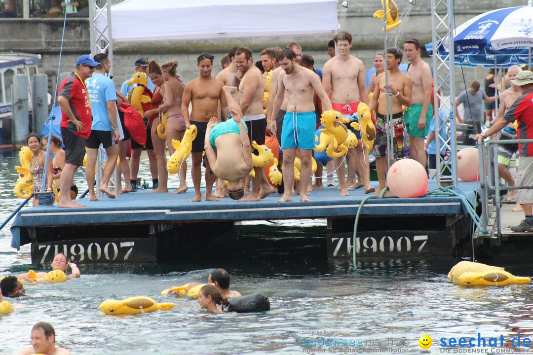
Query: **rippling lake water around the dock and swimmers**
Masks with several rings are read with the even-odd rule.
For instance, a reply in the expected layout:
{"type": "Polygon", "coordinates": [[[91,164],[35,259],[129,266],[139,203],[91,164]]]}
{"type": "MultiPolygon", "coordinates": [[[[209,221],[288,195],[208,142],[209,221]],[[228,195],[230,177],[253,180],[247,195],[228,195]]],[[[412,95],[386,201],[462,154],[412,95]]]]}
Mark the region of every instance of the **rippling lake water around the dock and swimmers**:
{"type": "MultiPolygon", "coordinates": [[[[2,221],[21,202],[13,194],[17,164],[12,152],[0,152],[2,221]]],[[[140,176],[149,178],[146,169],[140,176]]],[[[80,172],[76,180],[83,191],[86,184],[80,172]]],[[[177,185],[173,181],[171,185],[177,185]]],[[[447,277],[453,260],[361,260],[354,269],[349,259],[326,258],[325,220],[254,223],[236,226],[200,253],[180,260],[80,265],[79,279],[27,286],[27,296],[11,299],[15,312],[0,315],[0,354],[29,346],[30,329],[38,321],[55,327],[56,344],[72,354],[87,355],[419,354],[418,339],[424,334],[432,337],[430,351],[436,354],[443,351],[442,337],[481,333],[511,340],[518,334],[530,337],[533,331],[530,285],[459,288],[447,277]],[[173,285],[205,282],[216,267],[230,272],[235,290],[266,294],[271,311],[213,315],[200,310],[196,300],[159,295],[173,285]],[[98,310],[106,299],[135,295],[174,302],[175,307],[127,317],[98,310]],[[362,345],[327,346],[320,345],[321,340],[362,345]]],[[[20,251],[10,247],[8,227],[0,231],[0,276],[42,270],[30,265],[28,245],[20,251]]],[[[531,276],[533,266],[508,271],[531,276]]],[[[512,349],[504,343],[503,349],[492,352],[507,350],[512,349]]]]}

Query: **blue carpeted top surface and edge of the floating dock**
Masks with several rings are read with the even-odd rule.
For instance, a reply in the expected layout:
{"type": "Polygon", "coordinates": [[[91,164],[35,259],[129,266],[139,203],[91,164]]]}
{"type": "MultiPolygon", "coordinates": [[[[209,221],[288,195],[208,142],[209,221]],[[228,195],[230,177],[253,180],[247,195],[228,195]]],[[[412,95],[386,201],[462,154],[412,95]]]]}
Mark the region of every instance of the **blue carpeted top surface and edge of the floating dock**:
{"type": "MultiPolygon", "coordinates": [[[[434,180],[430,180],[428,184],[430,191],[437,186],[434,180]]],[[[372,185],[377,183],[373,181],[372,185]]],[[[475,206],[479,183],[461,181],[459,187],[455,191],[463,194],[475,206]]],[[[19,248],[20,245],[30,243],[28,234],[23,231],[28,227],[354,217],[362,200],[368,196],[362,188],[350,190],[349,196],[340,196],[340,190],[330,187],[314,190],[309,196],[311,202],[300,202],[299,196],[293,196],[293,202],[280,203],[277,202],[280,198],[277,193],[260,202],[237,202],[229,197],[219,201],[190,202],[193,197],[191,190],[189,188],[184,194],[153,194],[149,193],[150,190],[140,190],[120,195],[116,199],[105,196],[94,202],[82,199],[79,202],[87,207],[80,209],[58,209],[56,204],[24,209],[13,221],[11,245],[19,248]]],[[[367,216],[451,214],[467,214],[458,196],[369,199],[361,210],[361,215],[367,216]]]]}

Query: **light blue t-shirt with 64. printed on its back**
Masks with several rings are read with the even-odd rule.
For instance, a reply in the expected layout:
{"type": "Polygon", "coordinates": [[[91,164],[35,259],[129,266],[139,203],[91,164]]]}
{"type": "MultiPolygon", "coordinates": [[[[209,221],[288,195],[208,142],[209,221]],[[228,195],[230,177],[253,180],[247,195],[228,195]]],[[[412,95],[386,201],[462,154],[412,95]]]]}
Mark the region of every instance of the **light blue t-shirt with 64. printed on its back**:
{"type": "Polygon", "coordinates": [[[85,85],[91,99],[91,111],[93,112],[92,129],[113,130],[107,112],[107,102],[117,100],[113,80],[102,73],[93,73],[91,78],[85,79],[85,85]]]}

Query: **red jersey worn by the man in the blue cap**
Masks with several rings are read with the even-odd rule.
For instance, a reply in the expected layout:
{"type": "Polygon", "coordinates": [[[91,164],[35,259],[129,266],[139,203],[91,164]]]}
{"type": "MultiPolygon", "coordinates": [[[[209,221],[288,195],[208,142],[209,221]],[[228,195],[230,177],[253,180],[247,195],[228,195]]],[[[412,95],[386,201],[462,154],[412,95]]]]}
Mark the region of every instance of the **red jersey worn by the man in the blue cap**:
{"type": "Polygon", "coordinates": [[[67,114],[62,111],[61,122],[59,125],[63,128],[67,128],[77,136],[87,139],[91,135],[93,115],[91,113],[91,105],[89,104],[89,98],[84,83],[74,73],[70,73],[70,75],[61,83],[61,86],[59,87],[59,95],[68,100],[70,110],[74,113],[74,117],[82,121],[83,129],[78,132],[74,123],[70,122],[67,114]]]}

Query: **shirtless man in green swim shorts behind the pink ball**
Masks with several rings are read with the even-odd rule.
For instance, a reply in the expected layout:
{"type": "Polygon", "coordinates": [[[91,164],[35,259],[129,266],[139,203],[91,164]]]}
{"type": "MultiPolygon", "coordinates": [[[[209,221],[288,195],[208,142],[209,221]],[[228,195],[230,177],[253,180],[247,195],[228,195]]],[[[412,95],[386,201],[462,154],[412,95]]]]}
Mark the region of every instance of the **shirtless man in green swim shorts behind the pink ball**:
{"type": "Polygon", "coordinates": [[[406,40],[403,45],[405,56],[411,63],[407,75],[413,81],[413,98],[411,105],[405,109],[405,128],[409,136],[410,156],[426,166],[424,139],[433,116],[431,104],[431,68],[420,58],[420,41],[416,38],[406,40]]]}

